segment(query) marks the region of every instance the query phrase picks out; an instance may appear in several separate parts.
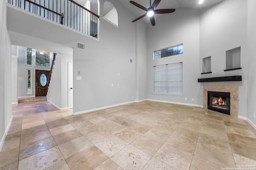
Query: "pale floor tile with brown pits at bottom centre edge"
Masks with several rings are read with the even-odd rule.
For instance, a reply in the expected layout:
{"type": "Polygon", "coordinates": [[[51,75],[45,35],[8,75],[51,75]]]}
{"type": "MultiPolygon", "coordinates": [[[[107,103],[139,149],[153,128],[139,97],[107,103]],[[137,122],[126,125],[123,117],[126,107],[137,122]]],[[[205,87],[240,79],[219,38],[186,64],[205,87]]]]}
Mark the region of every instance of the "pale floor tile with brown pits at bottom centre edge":
{"type": "Polygon", "coordinates": [[[145,166],[151,157],[152,156],[143,152],[142,150],[132,145],[128,145],[112,156],[111,159],[124,170],[140,170],[145,166]]]}

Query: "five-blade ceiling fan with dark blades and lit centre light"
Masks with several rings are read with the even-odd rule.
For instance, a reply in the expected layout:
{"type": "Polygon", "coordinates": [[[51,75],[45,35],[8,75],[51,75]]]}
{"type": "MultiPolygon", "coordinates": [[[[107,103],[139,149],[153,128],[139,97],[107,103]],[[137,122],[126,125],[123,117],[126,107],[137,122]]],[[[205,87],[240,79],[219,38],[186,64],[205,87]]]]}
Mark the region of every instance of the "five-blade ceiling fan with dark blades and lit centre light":
{"type": "Polygon", "coordinates": [[[155,1],[153,2],[153,4],[151,5],[151,0],[150,0],[150,7],[149,7],[149,8],[146,8],[146,7],[144,7],[144,6],[142,6],[142,5],[140,5],[140,4],[138,4],[138,3],[136,3],[136,2],[134,2],[134,1],[131,0],[131,1],[130,1],[131,4],[134,4],[134,5],[137,6],[138,8],[140,8],[140,9],[146,11],[146,14],[140,16],[139,18],[136,18],[136,19],[133,20],[132,22],[138,21],[138,20],[140,20],[141,18],[143,18],[144,16],[147,15],[147,16],[149,16],[149,18],[150,18],[151,24],[154,26],[154,25],[156,25],[156,23],[155,23],[155,18],[154,18],[154,14],[167,14],[167,13],[172,13],[172,12],[175,11],[175,9],[160,9],[160,10],[155,10],[155,8],[158,6],[158,4],[159,4],[160,1],[161,1],[161,0],[155,0],[155,1]]]}

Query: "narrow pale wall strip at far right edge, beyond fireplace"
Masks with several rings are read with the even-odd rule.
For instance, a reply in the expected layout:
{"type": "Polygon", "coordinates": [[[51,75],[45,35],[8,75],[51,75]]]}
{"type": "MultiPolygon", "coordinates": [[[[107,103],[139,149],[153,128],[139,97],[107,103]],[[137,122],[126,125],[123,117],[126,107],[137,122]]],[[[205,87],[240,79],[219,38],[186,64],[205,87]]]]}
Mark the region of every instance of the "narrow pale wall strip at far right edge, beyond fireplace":
{"type": "Polygon", "coordinates": [[[256,1],[248,0],[248,86],[247,86],[247,107],[248,107],[248,121],[254,126],[256,129],[256,118],[254,117],[254,113],[256,113],[256,58],[255,58],[255,45],[256,45],[256,1]]]}

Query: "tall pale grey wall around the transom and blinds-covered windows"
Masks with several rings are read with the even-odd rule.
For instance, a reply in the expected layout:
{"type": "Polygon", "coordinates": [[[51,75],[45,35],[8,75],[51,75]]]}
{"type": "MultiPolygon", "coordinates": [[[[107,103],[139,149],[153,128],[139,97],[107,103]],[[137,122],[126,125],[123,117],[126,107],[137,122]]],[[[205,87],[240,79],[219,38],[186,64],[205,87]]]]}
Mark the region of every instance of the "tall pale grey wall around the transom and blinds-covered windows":
{"type": "MultiPolygon", "coordinates": [[[[161,14],[162,15],[162,14],[161,14]]],[[[176,9],[156,18],[156,25],[148,24],[147,32],[147,98],[166,102],[202,105],[197,82],[199,72],[198,10],[176,9]],[[153,59],[153,52],[183,43],[183,54],[153,59]],[[153,94],[153,66],[183,62],[183,95],[153,94]],[[193,90],[192,90],[193,89],[193,90]],[[187,101],[185,101],[187,98],[187,101]],[[194,101],[192,101],[194,98],[194,101]]]]}

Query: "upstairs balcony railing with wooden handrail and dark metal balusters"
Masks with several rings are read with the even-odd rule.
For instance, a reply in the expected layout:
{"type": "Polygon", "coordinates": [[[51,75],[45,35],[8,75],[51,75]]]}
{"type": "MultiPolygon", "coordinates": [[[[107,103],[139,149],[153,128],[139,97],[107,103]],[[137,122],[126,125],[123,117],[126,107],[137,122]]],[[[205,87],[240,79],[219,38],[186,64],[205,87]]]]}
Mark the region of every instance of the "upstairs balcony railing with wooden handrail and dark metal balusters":
{"type": "Polygon", "coordinates": [[[97,38],[99,16],[73,0],[11,0],[11,4],[97,38]]]}

